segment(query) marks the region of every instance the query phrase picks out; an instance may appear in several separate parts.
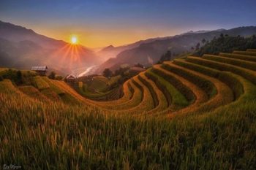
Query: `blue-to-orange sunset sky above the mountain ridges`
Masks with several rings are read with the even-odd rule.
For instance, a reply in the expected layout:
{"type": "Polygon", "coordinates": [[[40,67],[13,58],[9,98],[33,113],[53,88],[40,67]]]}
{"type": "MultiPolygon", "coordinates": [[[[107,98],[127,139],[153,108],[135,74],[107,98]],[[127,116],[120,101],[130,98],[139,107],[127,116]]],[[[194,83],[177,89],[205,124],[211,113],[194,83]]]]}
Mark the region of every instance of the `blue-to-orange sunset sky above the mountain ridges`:
{"type": "Polygon", "coordinates": [[[87,47],[256,26],[255,0],[1,0],[0,20],[87,47]]]}

